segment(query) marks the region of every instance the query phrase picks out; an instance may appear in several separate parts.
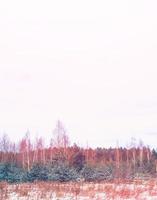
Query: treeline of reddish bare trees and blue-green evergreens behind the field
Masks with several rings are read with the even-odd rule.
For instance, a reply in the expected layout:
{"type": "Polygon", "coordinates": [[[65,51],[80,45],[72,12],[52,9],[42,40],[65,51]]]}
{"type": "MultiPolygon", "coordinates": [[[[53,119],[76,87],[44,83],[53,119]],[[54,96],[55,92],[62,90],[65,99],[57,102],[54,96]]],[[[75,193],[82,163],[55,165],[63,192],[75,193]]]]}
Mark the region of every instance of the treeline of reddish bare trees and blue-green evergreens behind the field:
{"type": "Polygon", "coordinates": [[[0,181],[102,181],[156,172],[157,152],[142,142],[129,148],[80,148],[70,145],[60,121],[49,146],[41,137],[32,142],[29,133],[17,144],[5,134],[0,138],[0,181]]]}

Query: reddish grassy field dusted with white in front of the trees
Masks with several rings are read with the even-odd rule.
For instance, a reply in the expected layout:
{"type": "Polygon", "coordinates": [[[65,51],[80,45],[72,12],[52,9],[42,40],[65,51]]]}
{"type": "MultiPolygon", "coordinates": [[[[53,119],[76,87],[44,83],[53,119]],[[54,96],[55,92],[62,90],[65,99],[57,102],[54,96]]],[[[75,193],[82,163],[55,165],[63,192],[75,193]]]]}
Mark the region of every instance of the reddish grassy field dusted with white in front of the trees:
{"type": "Polygon", "coordinates": [[[156,200],[157,180],[101,183],[0,183],[1,200],[156,200]]]}

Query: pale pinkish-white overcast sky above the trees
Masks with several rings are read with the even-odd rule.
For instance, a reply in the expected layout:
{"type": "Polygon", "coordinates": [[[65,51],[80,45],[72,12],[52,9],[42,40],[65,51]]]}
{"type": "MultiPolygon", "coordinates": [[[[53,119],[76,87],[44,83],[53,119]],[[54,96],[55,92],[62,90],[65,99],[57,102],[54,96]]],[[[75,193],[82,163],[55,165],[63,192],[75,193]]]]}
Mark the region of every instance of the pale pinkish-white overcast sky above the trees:
{"type": "Polygon", "coordinates": [[[0,135],[157,147],[156,0],[0,2],[0,135]]]}

